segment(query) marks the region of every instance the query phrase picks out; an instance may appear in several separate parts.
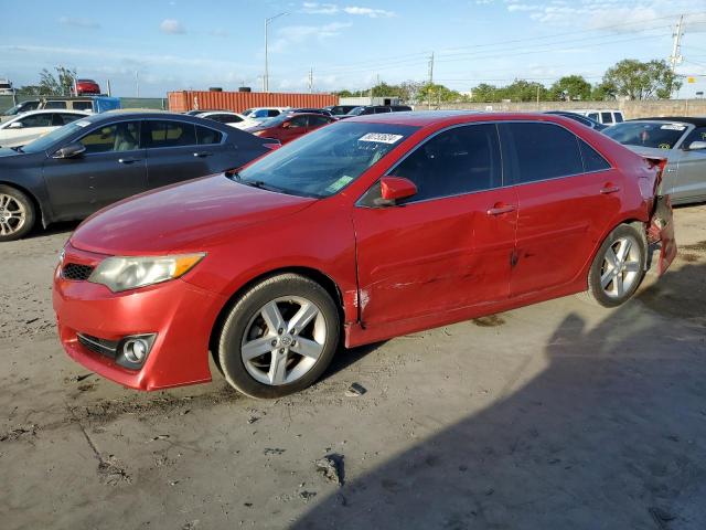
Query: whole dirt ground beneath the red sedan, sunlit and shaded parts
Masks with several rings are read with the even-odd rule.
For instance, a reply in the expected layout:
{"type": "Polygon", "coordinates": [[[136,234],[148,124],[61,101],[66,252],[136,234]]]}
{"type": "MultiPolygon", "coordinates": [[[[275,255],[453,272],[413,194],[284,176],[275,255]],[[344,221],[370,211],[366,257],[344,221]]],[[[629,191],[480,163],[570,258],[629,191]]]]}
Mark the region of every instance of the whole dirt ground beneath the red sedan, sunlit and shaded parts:
{"type": "Polygon", "coordinates": [[[271,402],[88,373],[51,308],[74,226],[2,244],[0,527],[704,529],[706,205],[675,216],[677,261],[621,308],[567,297],[342,351],[271,402]]]}

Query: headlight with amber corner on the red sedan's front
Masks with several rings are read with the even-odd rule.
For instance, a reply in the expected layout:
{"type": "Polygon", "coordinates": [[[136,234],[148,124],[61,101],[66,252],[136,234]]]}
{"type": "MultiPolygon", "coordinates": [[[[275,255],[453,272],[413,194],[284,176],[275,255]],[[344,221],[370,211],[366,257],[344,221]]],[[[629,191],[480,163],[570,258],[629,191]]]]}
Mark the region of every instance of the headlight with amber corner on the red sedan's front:
{"type": "Polygon", "coordinates": [[[178,278],[191,271],[205,253],[173,256],[108,257],[100,262],[88,282],[103,284],[114,293],[137,289],[178,278]]]}

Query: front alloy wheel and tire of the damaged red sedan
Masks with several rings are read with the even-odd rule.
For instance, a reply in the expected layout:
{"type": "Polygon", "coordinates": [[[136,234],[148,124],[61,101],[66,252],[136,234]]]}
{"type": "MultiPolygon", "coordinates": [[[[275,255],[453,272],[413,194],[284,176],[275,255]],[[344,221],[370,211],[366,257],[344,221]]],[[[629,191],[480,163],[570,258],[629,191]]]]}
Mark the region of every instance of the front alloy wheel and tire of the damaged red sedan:
{"type": "Polygon", "coordinates": [[[249,288],[232,307],[218,339],[226,381],[253,398],[281,398],[310,386],[339,344],[339,310],[306,276],[281,274],[249,288]]]}

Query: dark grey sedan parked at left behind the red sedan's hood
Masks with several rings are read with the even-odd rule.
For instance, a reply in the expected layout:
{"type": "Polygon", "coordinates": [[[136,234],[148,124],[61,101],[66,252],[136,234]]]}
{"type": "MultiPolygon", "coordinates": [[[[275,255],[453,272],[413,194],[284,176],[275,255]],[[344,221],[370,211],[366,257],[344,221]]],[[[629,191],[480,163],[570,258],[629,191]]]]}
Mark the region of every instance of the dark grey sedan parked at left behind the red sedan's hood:
{"type": "Polygon", "coordinates": [[[0,242],[40,222],[84,219],[152,188],[238,168],[269,152],[267,144],[191,116],[87,116],[22,148],[0,149],[0,242]]]}

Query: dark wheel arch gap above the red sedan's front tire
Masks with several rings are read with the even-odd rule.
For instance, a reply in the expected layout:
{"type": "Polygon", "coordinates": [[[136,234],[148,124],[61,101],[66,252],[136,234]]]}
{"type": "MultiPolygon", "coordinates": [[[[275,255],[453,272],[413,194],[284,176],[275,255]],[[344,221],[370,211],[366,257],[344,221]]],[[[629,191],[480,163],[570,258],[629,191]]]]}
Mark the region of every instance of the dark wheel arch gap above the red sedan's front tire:
{"type": "MultiPolygon", "coordinates": [[[[214,362],[216,363],[216,365],[218,364],[218,359],[217,359],[218,356],[216,351],[218,333],[221,332],[221,329],[223,328],[223,324],[225,322],[225,319],[228,316],[228,311],[231,310],[233,305],[236,303],[236,300],[240,298],[240,296],[243,296],[243,293],[245,293],[247,289],[249,289],[254,285],[259,284],[265,279],[271,278],[272,276],[279,276],[281,274],[299,274],[321,285],[321,287],[323,287],[325,292],[333,299],[336,306],[336,309],[339,311],[339,320],[341,324],[341,329],[343,329],[343,324],[344,324],[343,292],[341,290],[341,287],[339,286],[339,284],[331,276],[329,276],[325,273],[322,273],[317,268],[307,267],[307,266],[291,266],[291,267],[275,268],[266,273],[259,274],[258,276],[255,276],[247,283],[243,284],[226,300],[226,303],[223,305],[223,307],[218,311],[218,316],[216,317],[213,324],[213,327],[211,329],[211,336],[208,337],[208,350],[211,350],[211,356],[214,362]]],[[[221,369],[221,367],[218,367],[218,369],[221,369]]]]}

